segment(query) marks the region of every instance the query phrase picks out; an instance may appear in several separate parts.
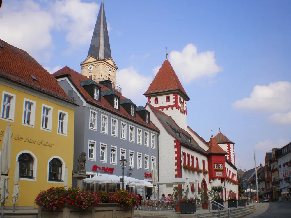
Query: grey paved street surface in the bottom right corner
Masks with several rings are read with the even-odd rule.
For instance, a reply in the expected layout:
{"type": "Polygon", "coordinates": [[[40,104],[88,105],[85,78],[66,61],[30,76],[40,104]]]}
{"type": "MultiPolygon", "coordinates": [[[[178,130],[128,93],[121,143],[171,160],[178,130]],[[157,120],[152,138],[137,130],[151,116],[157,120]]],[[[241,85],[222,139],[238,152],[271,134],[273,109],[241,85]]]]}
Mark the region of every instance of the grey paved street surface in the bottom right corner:
{"type": "Polygon", "coordinates": [[[267,204],[268,203],[259,203],[256,207],[256,211],[244,218],[291,217],[291,202],[269,202],[269,207],[267,204]]]}

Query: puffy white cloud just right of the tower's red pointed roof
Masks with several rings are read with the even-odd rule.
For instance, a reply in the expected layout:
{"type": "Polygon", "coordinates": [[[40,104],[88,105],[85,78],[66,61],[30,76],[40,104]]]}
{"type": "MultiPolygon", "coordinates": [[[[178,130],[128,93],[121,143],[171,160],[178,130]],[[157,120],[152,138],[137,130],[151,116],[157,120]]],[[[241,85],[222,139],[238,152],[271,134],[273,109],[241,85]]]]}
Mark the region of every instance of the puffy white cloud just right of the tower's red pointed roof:
{"type": "Polygon", "coordinates": [[[181,81],[189,83],[203,76],[213,77],[223,71],[223,67],[216,64],[214,51],[197,52],[197,47],[189,43],[183,50],[171,51],[169,61],[181,81]]]}

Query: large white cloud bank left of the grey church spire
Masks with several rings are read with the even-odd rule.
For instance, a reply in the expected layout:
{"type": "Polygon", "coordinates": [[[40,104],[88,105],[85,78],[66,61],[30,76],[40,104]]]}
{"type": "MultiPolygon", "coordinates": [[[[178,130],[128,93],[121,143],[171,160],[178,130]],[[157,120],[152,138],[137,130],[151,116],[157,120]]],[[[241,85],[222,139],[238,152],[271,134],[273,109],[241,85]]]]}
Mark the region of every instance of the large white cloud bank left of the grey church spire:
{"type": "Polygon", "coordinates": [[[1,8],[1,39],[35,58],[49,60],[54,49],[52,30],[64,31],[69,49],[88,44],[98,13],[98,4],[81,0],[4,1],[1,8]]]}

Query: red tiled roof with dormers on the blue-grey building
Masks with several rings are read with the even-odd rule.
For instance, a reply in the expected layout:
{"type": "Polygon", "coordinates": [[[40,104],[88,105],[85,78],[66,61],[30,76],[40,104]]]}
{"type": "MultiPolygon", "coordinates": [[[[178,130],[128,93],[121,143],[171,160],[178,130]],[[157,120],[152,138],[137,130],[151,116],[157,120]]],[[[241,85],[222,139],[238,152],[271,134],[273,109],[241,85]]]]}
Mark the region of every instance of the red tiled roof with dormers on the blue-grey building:
{"type": "MultiPolygon", "coordinates": [[[[96,106],[99,106],[101,108],[104,108],[105,110],[109,110],[112,113],[118,114],[122,117],[125,117],[129,120],[132,120],[136,123],[139,123],[143,126],[146,126],[148,128],[151,128],[155,131],[159,132],[159,129],[150,121],[150,124],[146,123],[145,121],[143,121],[143,119],[141,119],[141,117],[136,114],[136,117],[132,117],[130,116],[127,111],[120,106],[120,110],[115,110],[107,101],[106,99],[101,95],[101,99],[100,101],[96,101],[95,99],[93,99],[88,92],[81,86],[80,82],[81,81],[86,81],[88,80],[88,78],[76,71],[74,71],[73,69],[65,66],[62,69],[58,70],[57,72],[55,72],[54,74],[52,74],[54,77],[59,77],[59,76],[68,76],[68,78],[70,79],[70,81],[72,82],[72,84],[77,88],[77,90],[79,90],[79,92],[82,94],[82,96],[84,97],[84,99],[86,101],[88,101],[89,103],[92,103],[96,106]]],[[[101,91],[105,91],[108,90],[107,87],[103,86],[102,84],[98,83],[98,85],[101,87],[101,91]]],[[[115,92],[120,99],[125,99],[126,97],[120,95],[118,92],[115,92]]]]}

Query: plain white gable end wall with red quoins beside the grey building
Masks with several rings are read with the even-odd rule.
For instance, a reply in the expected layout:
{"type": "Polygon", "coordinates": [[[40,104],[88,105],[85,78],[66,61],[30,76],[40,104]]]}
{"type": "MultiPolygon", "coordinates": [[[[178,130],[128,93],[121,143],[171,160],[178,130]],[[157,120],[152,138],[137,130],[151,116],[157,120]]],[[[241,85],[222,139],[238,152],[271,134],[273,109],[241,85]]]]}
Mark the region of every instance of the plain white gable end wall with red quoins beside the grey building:
{"type": "MultiPolygon", "coordinates": [[[[168,178],[175,178],[175,148],[174,137],[171,136],[162,126],[155,114],[152,112],[149,106],[146,109],[150,112],[150,121],[153,122],[159,128],[159,180],[166,180],[168,178]]],[[[173,188],[166,188],[166,185],[159,185],[159,199],[162,194],[172,194],[173,188]]]]}

